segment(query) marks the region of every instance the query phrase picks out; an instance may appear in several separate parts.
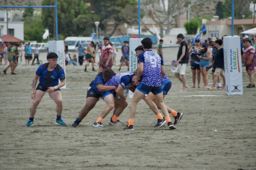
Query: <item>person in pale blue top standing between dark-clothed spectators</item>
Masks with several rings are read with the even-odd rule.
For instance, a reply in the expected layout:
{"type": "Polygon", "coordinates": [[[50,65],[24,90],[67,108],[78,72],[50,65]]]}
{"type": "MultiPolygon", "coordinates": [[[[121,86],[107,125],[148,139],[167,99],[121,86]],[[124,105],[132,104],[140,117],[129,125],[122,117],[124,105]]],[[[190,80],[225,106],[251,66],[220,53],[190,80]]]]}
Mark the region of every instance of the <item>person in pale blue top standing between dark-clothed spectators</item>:
{"type": "Polygon", "coordinates": [[[211,53],[207,49],[207,45],[203,44],[200,47],[202,51],[201,55],[197,55],[198,59],[200,59],[200,70],[202,73],[202,80],[203,80],[203,88],[208,88],[208,71],[206,71],[206,67],[210,65],[210,57],[211,53]]]}

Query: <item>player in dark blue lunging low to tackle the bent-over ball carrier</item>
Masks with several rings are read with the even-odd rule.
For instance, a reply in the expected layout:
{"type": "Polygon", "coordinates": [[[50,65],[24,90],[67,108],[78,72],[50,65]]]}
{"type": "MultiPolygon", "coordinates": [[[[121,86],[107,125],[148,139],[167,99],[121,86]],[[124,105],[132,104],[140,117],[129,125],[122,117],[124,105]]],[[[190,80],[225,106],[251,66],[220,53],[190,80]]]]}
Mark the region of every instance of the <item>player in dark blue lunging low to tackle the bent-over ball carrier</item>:
{"type": "Polygon", "coordinates": [[[89,111],[95,107],[96,103],[100,100],[100,97],[102,97],[101,91],[104,92],[116,89],[116,86],[104,85],[113,77],[114,74],[115,73],[111,68],[106,68],[91,81],[87,91],[85,106],[80,111],[77,119],[71,125],[72,127],[77,127],[89,111]]]}

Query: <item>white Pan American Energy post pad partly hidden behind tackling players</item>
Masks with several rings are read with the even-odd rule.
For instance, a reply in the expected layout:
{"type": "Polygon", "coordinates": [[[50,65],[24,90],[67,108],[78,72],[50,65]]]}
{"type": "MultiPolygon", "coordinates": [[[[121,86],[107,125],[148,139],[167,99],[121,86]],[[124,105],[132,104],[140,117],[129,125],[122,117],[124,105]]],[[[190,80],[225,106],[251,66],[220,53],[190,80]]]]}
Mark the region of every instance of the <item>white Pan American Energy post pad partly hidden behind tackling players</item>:
{"type": "MultiPolygon", "coordinates": [[[[130,73],[133,73],[138,68],[135,49],[137,48],[137,46],[141,45],[141,40],[142,39],[139,39],[139,38],[130,38],[130,57],[129,57],[130,73]]],[[[133,98],[133,92],[130,91],[129,97],[133,98]]]]}

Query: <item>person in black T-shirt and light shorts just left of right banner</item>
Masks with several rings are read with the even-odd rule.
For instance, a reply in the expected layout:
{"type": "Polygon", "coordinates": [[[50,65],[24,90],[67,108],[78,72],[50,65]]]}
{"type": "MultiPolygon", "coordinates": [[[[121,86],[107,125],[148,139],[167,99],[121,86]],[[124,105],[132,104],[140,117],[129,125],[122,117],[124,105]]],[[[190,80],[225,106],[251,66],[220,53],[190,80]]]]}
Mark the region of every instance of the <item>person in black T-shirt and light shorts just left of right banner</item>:
{"type": "Polygon", "coordinates": [[[219,75],[223,79],[223,87],[220,90],[226,90],[226,83],[225,83],[225,74],[224,74],[224,50],[222,48],[222,40],[218,39],[215,41],[215,46],[217,47],[217,51],[215,53],[213,68],[215,69],[214,72],[214,79],[213,84],[209,87],[209,90],[214,90],[214,86],[217,83],[219,75]]]}

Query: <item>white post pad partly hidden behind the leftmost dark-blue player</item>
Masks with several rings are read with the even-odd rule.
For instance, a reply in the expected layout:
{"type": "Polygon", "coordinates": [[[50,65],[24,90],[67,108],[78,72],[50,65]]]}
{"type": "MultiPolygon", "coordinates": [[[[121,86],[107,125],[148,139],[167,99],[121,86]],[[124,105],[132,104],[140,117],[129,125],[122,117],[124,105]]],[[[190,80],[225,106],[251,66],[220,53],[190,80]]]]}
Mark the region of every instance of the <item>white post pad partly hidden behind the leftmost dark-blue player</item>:
{"type": "MultiPolygon", "coordinates": [[[[50,52],[55,52],[58,55],[58,64],[64,69],[65,72],[65,77],[67,79],[66,75],[66,69],[65,69],[65,46],[64,46],[64,41],[48,41],[49,45],[49,53],[50,52]]],[[[67,81],[66,81],[67,82],[67,81]]],[[[61,87],[61,89],[65,89],[66,84],[61,87]]]]}

